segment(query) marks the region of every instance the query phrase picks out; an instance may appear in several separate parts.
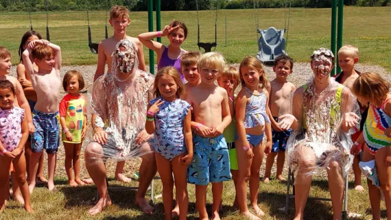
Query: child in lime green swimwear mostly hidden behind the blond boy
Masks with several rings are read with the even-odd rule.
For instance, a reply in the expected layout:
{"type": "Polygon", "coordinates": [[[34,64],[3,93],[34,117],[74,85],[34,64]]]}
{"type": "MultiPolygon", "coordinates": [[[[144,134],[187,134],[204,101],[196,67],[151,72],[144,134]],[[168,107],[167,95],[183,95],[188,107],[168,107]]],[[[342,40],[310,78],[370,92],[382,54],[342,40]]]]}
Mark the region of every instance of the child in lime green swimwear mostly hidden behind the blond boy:
{"type": "MultiPolygon", "coordinates": [[[[217,78],[217,83],[220,87],[225,88],[228,93],[228,105],[230,110],[230,115],[232,117],[231,123],[226,127],[223,132],[224,138],[226,138],[226,143],[229,151],[229,161],[230,161],[230,173],[232,174],[233,184],[237,184],[237,177],[239,175],[239,166],[237,164],[237,155],[235,149],[235,135],[236,135],[236,120],[235,120],[235,89],[239,85],[240,77],[239,71],[233,66],[228,66],[220,73],[217,78]]],[[[237,199],[235,196],[235,201],[233,202],[233,208],[239,208],[237,204],[237,199]]]]}

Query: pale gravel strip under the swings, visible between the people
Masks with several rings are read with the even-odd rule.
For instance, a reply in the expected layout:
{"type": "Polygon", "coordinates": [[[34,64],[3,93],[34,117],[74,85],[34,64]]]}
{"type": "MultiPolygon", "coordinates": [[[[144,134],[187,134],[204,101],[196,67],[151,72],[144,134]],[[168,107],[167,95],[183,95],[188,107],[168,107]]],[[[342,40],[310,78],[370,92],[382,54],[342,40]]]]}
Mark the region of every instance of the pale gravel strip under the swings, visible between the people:
{"type": "MultiPolygon", "coordinates": [[[[233,64],[233,66],[237,66],[238,67],[239,64],[233,64]]],[[[86,88],[91,86],[91,84],[93,83],[93,76],[95,74],[95,69],[96,69],[96,66],[62,66],[61,77],[63,77],[64,73],[66,73],[67,71],[70,71],[70,70],[80,71],[80,73],[82,73],[82,75],[84,76],[84,82],[85,82],[84,90],[86,90],[86,88]]],[[[386,69],[383,69],[380,66],[357,64],[356,69],[358,71],[362,72],[362,73],[364,73],[366,71],[372,71],[372,72],[375,72],[375,73],[379,73],[386,80],[391,82],[391,75],[390,75],[390,73],[388,73],[386,71],[386,69]]],[[[265,72],[266,72],[266,75],[268,75],[268,79],[269,80],[273,80],[274,79],[274,73],[273,73],[272,68],[265,67],[265,72]]],[[[16,77],[16,66],[12,67],[11,75],[16,77]]],[[[294,73],[291,76],[289,76],[288,80],[289,80],[289,82],[292,82],[296,86],[300,86],[300,85],[304,84],[305,82],[307,82],[307,80],[312,75],[313,75],[313,73],[311,71],[311,67],[310,67],[309,63],[295,63],[294,64],[294,73]]],[[[62,97],[64,95],[65,95],[64,90],[61,88],[60,89],[59,100],[62,99],[62,97]]],[[[84,147],[85,147],[86,143],[88,143],[88,138],[84,141],[82,151],[84,151],[84,147]]],[[[57,158],[58,162],[57,162],[56,175],[62,175],[62,176],[66,176],[67,175],[65,173],[65,169],[64,169],[64,154],[65,154],[64,147],[63,147],[63,145],[61,143],[61,145],[59,147],[59,151],[58,151],[58,158],[57,158]]],[[[265,158],[264,158],[264,160],[265,160],[265,158]]],[[[265,164],[264,162],[263,162],[263,164],[265,164]]],[[[88,178],[88,173],[86,171],[86,167],[85,167],[85,164],[84,164],[84,154],[82,154],[82,156],[81,156],[81,164],[82,164],[82,166],[81,166],[82,167],[82,169],[81,169],[81,177],[82,178],[88,178]]],[[[128,177],[132,176],[132,173],[138,171],[140,164],[141,164],[141,160],[138,159],[138,158],[126,162],[126,167],[124,169],[125,175],[127,175],[128,177]]],[[[106,164],[106,167],[108,169],[108,175],[109,176],[114,176],[114,173],[115,173],[115,163],[114,162],[108,162],[106,164]]],[[[272,176],[275,175],[275,169],[276,169],[276,167],[274,166],[273,169],[272,169],[272,176]]],[[[285,174],[287,173],[287,166],[286,165],[285,165],[284,172],[285,172],[285,174]]],[[[263,173],[264,173],[264,165],[261,168],[261,176],[263,176],[263,173]]],[[[45,155],[45,175],[47,175],[47,156],[46,155],[45,155]]],[[[323,173],[323,175],[324,175],[324,173],[323,173]]],[[[353,175],[351,175],[351,178],[353,178],[353,175]]]]}

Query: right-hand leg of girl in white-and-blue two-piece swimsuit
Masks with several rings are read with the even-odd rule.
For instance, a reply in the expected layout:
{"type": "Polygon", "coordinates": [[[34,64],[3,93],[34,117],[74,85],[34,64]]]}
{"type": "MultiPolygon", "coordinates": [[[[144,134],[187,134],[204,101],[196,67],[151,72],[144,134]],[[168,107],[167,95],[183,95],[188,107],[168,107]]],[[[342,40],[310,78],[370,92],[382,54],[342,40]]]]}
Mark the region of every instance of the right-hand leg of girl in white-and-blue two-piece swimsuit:
{"type": "Polygon", "coordinates": [[[254,157],[252,158],[252,164],[250,168],[250,202],[254,209],[255,215],[264,216],[265,212],[258,206],[258,193],[259,193],[259,170],[261,169],[263,161],[263,152],[265,151],[265,145],[263,141],[256,147],[252,148],[254,157]]]}

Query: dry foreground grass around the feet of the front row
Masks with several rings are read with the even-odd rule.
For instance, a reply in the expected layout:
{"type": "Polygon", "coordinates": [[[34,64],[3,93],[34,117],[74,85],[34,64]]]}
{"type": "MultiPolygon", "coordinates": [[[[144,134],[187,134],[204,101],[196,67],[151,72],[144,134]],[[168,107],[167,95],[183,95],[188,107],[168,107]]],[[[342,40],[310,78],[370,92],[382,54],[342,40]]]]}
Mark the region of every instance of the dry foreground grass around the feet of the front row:
{"type": "MultiPolygon", "coordinates": [[[[101,214],[91,217],[87,210],[94,205],[96,189],[94,186],[83,186],[73,188],[67,186],[67,180],[57,178],[59,191],[49,193],[47,188],[38,187],[32,195],[32,207],[35,210],[33,215],[27,215],[23,208],[16,204],[15,201],[10,201],[5,209],[5,212],[0,215],[0,219],[145,219],[145,220],[161,220],[163,215],[162,198],[155,200],[156,212],[153,215],[143,215],[143,213],[134,205],[135,191],[110,191],[113,205],[106,208],[101,214]]],[[[112,186],[118,185],[119,182],[110,181],[112,186]]],[[[365,182],[363,182],[366,185],[365,182]]],[[[136,182],[131,185],[137,186],[136,182]]],[[[350,184],[353,186],[353,182],[350,184]]],[[[209,210],[211,209],[211,187],[207,196],[209,210]]],[[[365,187],[366,188],[366,187],[365,187]]],[[[161,181],[155,180],[155,195],[161,195],[161,181]]],[[[195,188],[193,185],[188,185],[190,203],[188,219],[198,219],[198,213],[195,210],[195,188]]],[[[277,180],[272,180],[269,184],[261,183],[259,193],[259,206],[265,211],[266,217],[263,219],[292,219],[294,215],[294,200],[289,202],[289,215],[285,215],[284,211],[279,210],[285,207],[286,184],[282,184],[277,180]]],[[[314,179],[311,187],[311,196],[314,197],[329,197],[327,181],[324,179],[314,179]]],[[[230,206],[235,198],[235,188],[233,181],[225,182],[223,194],[223,212],[222,218],[229,220],[244,219],[239,215],[239,212],[232,210],[230,206]]],[[[353,189],[348,191],[348,210],[351,212],[362,214],[363,217],[357,219],[370,219],[370,204],[368,199],[368,189],[364,192],[357,192],[353,189]]],[[[386,218],[385,207],[382,206],[382,217],[386,218]]],[[[305,209],[305,219],[326,220],[332,219],[332,209],[330,201],[308,201],[305,209]]]]}

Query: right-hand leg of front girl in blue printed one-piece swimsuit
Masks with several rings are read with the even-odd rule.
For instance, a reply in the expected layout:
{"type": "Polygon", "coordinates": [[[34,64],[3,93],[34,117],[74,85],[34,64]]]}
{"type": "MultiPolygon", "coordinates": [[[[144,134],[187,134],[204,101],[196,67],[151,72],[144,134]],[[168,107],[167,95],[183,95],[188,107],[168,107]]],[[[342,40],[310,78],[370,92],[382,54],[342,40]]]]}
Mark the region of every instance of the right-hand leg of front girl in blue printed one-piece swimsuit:
{"type": "Polygon", "coordinates": [[[182,163],[182,157],[185,154],[180,154],[171,160],[171,168],[174,173],[176,203],[179,205],[179,219],[185,220],[187,216],[187,208],[189,206],[189,196],[187,195],[187,165],[182,163]]]}

